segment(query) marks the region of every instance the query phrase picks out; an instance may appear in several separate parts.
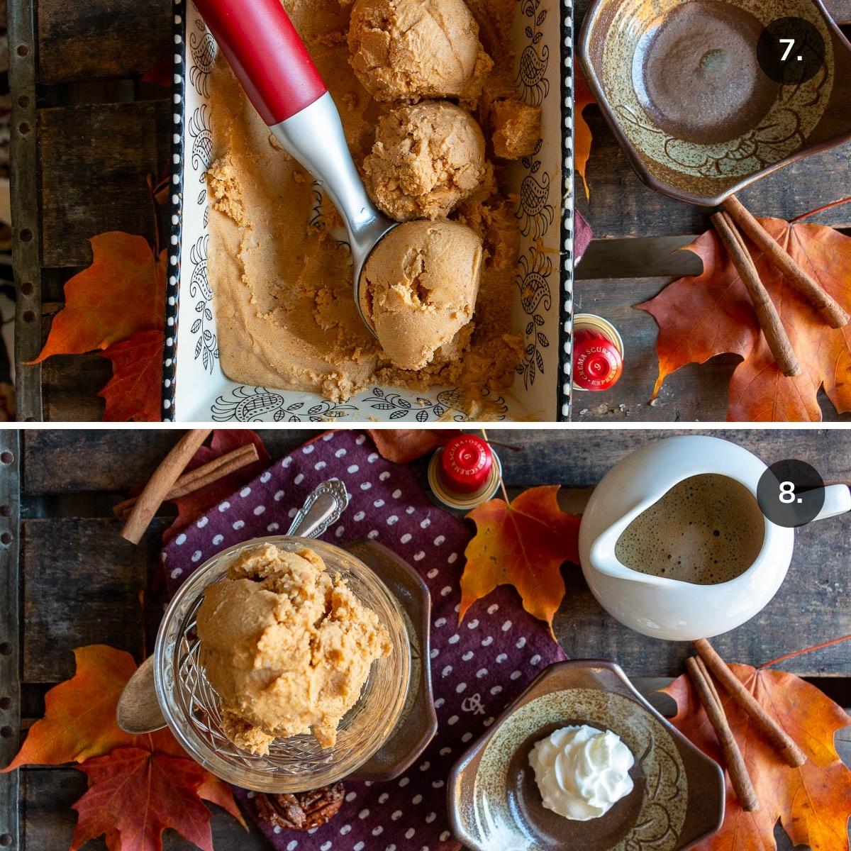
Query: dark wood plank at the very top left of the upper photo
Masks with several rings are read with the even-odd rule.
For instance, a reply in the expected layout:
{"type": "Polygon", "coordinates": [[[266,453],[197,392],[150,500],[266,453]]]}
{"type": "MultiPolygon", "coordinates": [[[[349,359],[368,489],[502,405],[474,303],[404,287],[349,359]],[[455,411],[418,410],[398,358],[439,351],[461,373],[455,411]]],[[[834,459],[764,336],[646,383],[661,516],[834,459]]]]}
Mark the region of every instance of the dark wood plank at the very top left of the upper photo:
{"type": "Polygon", "coordinates": [[[149,71],[172,48],[172,10],[169,0],[39,0],[39,82],[137,77],[149,71]]]}

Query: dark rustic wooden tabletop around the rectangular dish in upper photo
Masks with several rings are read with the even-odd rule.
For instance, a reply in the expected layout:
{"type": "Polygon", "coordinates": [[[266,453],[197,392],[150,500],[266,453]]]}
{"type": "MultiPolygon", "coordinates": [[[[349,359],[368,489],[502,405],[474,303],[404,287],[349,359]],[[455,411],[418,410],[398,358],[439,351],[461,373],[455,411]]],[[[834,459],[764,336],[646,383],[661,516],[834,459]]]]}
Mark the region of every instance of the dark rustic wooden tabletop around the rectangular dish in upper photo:
{"type": "MultiPolygon", "coordinates": [[[[588,0],[578,0],[576,31],[588,0]]],[[[851,21],[851,0],[828,0],[837,20],[851,21]]],[[[18,409],[23,420],[100,420],[97,391],[111,366],[98,355],[37,356],[63,284],[91,260],[87,237],[124,230],[152,237],[146,175],[168,168],[168,93],[139,77],[169,54],[170,0],[10,0],[9,44],[14,94],[12,157],[18,409]]],[[[723,420],[736,357],[689,366],[648,403],[656,378],[656,326],[631,306],[672,276],[699,271],[674,249],[708,225],[705,211],[662,197],[637,179],[596,106],[587,176],[590,203],[579,208],[595,240],[577,269],[576,311],[602,313],[625,339],[626,371],[606,393],[580,394],[574,420],[723,420]]],[[[848,195],[851,145],[785,168],[740,193],[760,215],[791,218],[848,195]]],[[[818,221],[851,227],[851,206],[818,221]]],[[[825,420],[837,419],[823,399],[825,420]]]]}

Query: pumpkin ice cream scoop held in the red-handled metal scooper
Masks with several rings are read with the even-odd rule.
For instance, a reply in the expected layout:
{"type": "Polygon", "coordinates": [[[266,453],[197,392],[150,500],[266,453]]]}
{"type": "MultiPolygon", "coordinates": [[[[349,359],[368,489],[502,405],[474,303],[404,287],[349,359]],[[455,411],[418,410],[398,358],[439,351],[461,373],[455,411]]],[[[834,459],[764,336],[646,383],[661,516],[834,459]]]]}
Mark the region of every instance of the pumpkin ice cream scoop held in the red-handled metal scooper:
{"type": "Polygon", "coordinates": [[[408,221],[369,254],[361,308],[387,357],[420,369],[473,317],[482,272],[482,240],[445,219],[408,221]]]}

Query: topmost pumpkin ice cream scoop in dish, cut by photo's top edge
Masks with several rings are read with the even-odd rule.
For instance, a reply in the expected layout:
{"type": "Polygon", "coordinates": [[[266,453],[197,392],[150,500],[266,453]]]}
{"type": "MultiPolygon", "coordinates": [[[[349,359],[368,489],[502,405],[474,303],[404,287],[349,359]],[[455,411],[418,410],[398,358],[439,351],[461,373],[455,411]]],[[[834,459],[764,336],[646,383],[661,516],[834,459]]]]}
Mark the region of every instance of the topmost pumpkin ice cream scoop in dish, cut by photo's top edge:
{"type": "Polygon", "coordinates": [[[494,64],[464,0],[357,0],[349,52],[375,100],[477,100],[494,64]]]}

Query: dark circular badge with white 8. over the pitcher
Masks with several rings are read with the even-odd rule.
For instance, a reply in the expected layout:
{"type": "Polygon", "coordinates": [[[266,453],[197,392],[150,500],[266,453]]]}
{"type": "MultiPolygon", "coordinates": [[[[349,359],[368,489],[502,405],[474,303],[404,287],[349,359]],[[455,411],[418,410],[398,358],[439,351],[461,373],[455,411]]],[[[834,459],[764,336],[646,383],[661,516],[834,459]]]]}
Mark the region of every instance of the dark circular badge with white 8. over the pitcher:
{"type": "Polygon", "coordinates": [[[757,501],[772,523],[796,528],[809,523],[821,511],[825,483],[818,471],[804,461],[778,461],[759,478],[757,501]]]}

